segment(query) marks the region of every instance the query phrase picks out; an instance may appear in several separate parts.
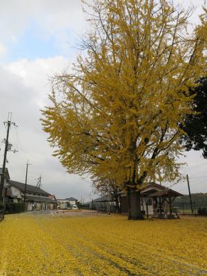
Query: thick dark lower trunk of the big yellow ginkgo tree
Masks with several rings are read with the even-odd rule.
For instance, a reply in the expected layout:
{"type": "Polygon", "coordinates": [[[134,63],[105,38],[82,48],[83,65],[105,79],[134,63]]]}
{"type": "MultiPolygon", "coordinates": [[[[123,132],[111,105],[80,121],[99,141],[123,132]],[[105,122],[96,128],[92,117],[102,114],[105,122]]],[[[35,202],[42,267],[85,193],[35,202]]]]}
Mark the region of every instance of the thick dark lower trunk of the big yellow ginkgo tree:
{"type": "Polygon", "coordinates": [[[137,192],[135,188],[128,188],[127,199],[128,219],[144,219],[141,213],[140,192],[137,192]]]}

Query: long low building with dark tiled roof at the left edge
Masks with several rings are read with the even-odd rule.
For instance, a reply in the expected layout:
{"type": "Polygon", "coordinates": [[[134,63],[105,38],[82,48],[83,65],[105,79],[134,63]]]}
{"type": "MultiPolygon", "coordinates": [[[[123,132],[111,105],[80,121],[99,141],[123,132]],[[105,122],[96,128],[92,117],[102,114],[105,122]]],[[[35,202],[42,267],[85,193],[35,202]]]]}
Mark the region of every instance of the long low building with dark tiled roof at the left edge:
{"type": "MultiPolygon", "coordinates": [[[[2,169],[0,168],[0,173],[2,169]]],[[[25,184],[10,179],[8,169],[5,174],[5,203],[23,202],[25,195],[25,184]]],[[[26,185],[26,210],[48,210],[56,209],[57,200],[54,195],[42,190],[37,186],[26,185]]]]}

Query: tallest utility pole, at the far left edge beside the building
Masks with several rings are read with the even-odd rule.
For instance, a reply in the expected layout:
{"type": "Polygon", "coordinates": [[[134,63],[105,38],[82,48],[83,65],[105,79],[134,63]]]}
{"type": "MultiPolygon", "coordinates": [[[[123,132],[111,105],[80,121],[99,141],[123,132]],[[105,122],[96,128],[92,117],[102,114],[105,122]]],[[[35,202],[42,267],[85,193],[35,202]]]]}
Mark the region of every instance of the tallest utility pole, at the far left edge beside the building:
{"type": "Polygon", "coordinates": [[[0,182],[0,205],[2,208],[4,208],[4,197],[5,197],[5,191],[4,191],[4,182],[5,182],[5,172],[6,172],[6,155],[8,151],[13,151],[14,153],[17,152],[17,150],[10,150],[8,138],[10,134],[10,126],[14,125],[17,126],[14,122],[11,121],[12,119],[12,112],[8,113],[8,120],[3,122],[4,126],[7,126],[6,131],[6,140],[5,140],[5,148],[4,148],[4,155],[3,155],[3,167],[1,172],[1,182],[0,182]]]}

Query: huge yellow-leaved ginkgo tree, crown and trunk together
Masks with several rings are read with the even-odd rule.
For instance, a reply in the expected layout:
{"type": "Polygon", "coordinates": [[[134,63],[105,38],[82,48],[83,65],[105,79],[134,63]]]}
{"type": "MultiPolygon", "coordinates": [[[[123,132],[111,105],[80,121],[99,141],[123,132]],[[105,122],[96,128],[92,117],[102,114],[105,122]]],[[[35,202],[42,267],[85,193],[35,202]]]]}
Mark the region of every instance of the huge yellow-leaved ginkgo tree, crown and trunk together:
{"type": "Polygon", "coordinates": [[[128,219],[142,219],[146,181],[180,176],[179,126],[192,112],[188,89],[206,75],[206,21],[188,34],[191,10],[167,0],[97,0],[92,9],[86,54],[55,77],[43,129],[68,172],[110,172],[127,190],[128,219]]]}

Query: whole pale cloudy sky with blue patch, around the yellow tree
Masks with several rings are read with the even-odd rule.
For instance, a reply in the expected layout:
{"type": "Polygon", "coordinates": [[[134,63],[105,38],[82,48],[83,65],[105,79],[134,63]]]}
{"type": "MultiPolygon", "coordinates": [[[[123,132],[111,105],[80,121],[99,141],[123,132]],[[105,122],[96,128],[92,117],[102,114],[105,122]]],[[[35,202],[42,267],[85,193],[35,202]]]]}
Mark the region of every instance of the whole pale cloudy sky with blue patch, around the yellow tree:
{"type": "MultiPolygon", "coordinates": [[[[192,23],[198,22],[203,0],[180,1],[184,6],[194,5],[197,10],[192,23]]],[[[81,34],[89,29],[80,0],[7,0],[0,3],[0,162],[3,163],[2,140],[6,137],[3,121],[12,112],[10,143],[17,153],[8,152],[10,178],[25,181],[26,163],[28,184],[36,184],[42,176],[43,189],[57,198],[89,199],[90,179],[68,175],[41,130],[39,109],[48,103],[50,83],[54,73],[70,68],[75,60],[75,45],[81,34]]],[[[193,193],[207,193],[207,160],[201,152],[188,152],[182,169],[190,177],[193,193]]],[[[174,187],[187,193],[187,184],[174,187]]],[[[94,197],[94,196],[93,196],[94,197]]]]}

